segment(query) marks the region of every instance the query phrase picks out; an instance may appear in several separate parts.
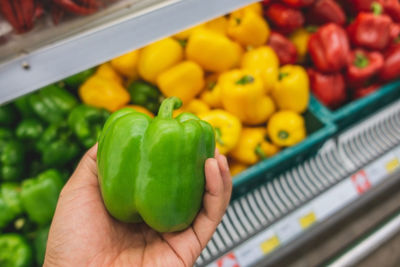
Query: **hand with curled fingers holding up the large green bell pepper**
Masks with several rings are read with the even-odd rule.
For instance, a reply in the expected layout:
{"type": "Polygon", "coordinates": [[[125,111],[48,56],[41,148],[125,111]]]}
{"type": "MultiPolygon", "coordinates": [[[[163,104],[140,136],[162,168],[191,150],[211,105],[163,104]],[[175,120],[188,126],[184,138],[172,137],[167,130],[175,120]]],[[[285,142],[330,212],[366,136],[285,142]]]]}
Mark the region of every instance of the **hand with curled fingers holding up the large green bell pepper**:
{"type": "Polygon", "coordinates": [[[145,223],[112,218],[100,194],[97,145],[82,158],[61,191],[44,266],[192,266],[229,204],[232,181],[225,156],[205,164],[203,206],[181,232],[157,233],[145,223]]]}

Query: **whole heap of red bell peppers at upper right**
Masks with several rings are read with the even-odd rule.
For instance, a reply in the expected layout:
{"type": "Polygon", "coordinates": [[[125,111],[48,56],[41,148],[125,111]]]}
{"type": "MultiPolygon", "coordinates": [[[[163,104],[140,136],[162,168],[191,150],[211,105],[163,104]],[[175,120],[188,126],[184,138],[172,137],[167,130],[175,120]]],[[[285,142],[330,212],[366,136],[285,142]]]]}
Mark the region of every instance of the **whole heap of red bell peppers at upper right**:
{"type": "Polygon", "coordinates": [[[300,59],[289,36],[309,32],[301,63],[312,92],[328,107],[340,107],[400,77],[398,0],[264,0],[263,5],[273,30],[268,44],[281,64],[300,59]]]}

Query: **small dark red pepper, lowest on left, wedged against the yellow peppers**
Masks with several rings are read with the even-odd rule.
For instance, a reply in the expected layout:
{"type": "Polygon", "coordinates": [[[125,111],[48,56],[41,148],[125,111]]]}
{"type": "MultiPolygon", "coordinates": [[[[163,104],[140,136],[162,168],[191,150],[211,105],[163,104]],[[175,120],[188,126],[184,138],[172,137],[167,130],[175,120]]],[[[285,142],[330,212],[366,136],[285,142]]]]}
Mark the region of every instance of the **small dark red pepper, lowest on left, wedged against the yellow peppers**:
{"type": "Polygon", "coordinates": [[[281,65],[297,62],[296,46],[285,36],[277,32],[271,32],[268,45],[274,49],[281,65]]]}

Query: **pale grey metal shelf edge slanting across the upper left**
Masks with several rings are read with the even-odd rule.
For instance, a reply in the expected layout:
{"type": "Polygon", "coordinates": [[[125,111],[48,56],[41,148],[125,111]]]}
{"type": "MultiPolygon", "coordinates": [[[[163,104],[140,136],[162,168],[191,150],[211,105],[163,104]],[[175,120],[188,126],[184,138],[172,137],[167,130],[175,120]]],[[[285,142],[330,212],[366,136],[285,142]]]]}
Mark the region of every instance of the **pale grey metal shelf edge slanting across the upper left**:
{"type": "Polygon", "coordinates": [[[0,46],[0,104],[254,0],[128,0],[0,46]]]}

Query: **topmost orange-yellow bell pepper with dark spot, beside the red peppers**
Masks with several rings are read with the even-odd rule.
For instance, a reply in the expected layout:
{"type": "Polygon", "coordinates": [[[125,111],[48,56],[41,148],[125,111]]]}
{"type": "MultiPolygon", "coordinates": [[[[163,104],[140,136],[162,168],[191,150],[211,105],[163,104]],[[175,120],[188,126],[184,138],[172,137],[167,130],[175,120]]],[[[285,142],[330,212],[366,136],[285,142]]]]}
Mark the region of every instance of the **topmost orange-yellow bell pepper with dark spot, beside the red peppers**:
{"type": "Polygon", "coordinates": [[[232,13],[228,36],[244,46],[260,46],[268,40],[270,29],[266,20],[253,11],[232,13]]]}

